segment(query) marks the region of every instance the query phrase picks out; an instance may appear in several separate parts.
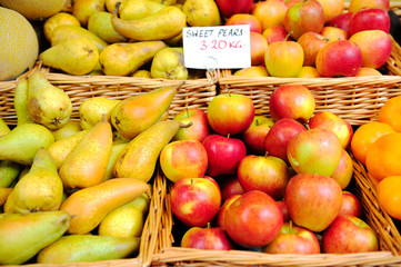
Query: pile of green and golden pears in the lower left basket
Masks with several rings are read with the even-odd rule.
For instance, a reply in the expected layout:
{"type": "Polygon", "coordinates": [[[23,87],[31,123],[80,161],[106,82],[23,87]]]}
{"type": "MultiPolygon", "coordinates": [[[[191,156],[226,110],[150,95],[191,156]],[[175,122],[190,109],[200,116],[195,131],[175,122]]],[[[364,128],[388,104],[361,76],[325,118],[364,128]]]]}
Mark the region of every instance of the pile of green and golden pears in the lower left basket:
{"type": "Polygon", "coordinates": [[[17,81],[17,125],[0,118],[0,265],[139,255],[168,111],[183,82],[117,100],[71,98],[39,69],[17,81]]]}

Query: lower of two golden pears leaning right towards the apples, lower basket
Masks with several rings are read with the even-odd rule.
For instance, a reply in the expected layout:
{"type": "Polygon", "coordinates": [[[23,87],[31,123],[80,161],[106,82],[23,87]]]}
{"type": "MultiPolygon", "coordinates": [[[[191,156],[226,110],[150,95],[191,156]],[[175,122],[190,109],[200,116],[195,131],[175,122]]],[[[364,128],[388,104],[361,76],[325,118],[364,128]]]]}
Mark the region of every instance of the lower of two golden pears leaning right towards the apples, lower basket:
{"type": "Polygon", "coordinates": [[[139,134],[117,160],[114,176],[133,177],[148,182],[153,176],[160,151],[170,142],[180,126],[178,120],[163,120],[139,134]]]}

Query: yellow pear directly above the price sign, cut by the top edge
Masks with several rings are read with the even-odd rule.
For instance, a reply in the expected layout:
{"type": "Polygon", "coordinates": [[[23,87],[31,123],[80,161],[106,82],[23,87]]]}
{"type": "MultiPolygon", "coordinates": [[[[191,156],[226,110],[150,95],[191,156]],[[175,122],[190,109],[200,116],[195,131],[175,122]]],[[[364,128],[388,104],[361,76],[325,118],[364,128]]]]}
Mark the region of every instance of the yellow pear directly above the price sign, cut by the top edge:
{"type": "Polygon", "coordinates": [[[187,22],[192,27],[220,26],[221,18],[214,0],[187,0],[182,6],[187,22]]]}

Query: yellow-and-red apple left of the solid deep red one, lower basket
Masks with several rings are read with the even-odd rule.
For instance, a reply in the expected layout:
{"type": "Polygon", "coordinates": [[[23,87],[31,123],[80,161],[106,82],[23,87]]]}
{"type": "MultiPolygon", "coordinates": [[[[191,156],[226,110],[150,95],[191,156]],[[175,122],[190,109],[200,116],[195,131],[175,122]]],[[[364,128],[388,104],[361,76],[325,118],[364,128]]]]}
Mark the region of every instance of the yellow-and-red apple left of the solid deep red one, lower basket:
{"type": "Polygon", "coordinates": [[[171,141],[161,150],[159,161],[166,177],[177,182],[182,178],[203,177],[208,152],[198,140],[171,141]]]}

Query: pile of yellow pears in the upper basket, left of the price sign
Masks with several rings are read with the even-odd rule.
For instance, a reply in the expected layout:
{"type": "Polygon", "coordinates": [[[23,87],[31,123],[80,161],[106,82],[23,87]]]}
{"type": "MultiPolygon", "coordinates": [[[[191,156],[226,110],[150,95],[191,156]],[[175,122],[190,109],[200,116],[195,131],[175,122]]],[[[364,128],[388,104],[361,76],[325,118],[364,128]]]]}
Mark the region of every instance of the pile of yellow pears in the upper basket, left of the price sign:
{"type": "Polygon", "coordinates": [[[74,0],[43,23],[44,66],[68,75],[187,80],[182,29],[222,23],[214,0],[74,0]]]}

